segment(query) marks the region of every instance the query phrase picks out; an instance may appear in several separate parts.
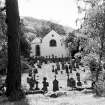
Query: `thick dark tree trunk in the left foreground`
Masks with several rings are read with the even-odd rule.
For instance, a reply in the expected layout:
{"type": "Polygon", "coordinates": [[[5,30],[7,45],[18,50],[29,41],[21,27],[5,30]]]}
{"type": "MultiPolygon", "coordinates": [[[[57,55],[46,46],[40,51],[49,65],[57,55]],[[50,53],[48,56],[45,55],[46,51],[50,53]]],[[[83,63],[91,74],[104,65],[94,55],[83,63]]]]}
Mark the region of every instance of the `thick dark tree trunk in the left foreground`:
{"type": "Polygon", "coordinates": [[[8,70],[6,95],[11,100],[23,98],[21,90],[21,63],[19,38],[19,11],[17,0],[6,0],[7,36],[8,36],[8,70]]]}

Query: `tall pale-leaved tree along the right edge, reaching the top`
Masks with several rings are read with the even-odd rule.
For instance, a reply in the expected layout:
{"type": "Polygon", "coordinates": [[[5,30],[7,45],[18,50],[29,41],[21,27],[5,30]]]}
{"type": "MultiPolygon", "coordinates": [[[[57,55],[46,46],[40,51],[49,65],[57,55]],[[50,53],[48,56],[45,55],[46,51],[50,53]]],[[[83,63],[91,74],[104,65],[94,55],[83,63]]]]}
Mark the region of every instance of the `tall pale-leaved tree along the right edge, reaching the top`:
{"type": "MultiPolygon", "coordinates": [[[[105,59],[105,3],[103,0],[85,0],[84,2],[91,4],[91,6],[85,9],[85,17],[83,18],[84,21],[80,30],[82,34],[87,35],[92,42],[95,42],[94,44],[88,44],[88,48],[91,48],[90,50],[98,55],[96,83],[100,83],[99,78],[100,76],[102,77],[103,70],[102,60],[105,59]]],[[[97,84],[97,95],[100,94],[99,87],[99,84],[97,84]]]]}

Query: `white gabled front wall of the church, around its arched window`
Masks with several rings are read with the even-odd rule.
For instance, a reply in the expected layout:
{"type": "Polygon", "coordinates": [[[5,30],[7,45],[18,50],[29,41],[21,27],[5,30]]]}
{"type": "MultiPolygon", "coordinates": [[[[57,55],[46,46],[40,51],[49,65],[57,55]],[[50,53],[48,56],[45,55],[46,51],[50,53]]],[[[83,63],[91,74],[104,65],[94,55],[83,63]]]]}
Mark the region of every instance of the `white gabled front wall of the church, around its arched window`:
{"type": "Polygon", "coordinates": [[[41,44],[41,56],[44,57],[52,57],[52,55],[56,57],[67,57],[68,56],[68,50],[65,47],[64,43],[62,43],[62,37],[57,34],[55,31],[51,31],[49,34],[47,34],[41,44]],[[57,43],[56,47],[50,46],[50,40],[54,39],[57,43]]]}

